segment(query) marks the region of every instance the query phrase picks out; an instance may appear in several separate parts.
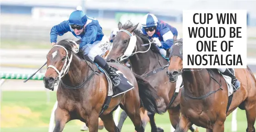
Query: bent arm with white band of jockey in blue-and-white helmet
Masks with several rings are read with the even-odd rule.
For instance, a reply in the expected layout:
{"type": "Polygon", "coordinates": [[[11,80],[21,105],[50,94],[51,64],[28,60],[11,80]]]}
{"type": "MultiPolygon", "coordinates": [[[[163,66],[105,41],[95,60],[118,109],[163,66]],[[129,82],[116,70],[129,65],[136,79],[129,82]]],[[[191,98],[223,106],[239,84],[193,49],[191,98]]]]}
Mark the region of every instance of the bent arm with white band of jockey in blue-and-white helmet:
{"type": "Polygon", "coordinates": [[[177,35],[177,29],[174,27],[172,28],[173,28],[172,31],[170,31],[168,27],[164,27],[161,30],[160,35],[162,36],[163,41],[161,41],[162,46],[160,48],[167,50],[172,46],[173,36],[177,35]]]}

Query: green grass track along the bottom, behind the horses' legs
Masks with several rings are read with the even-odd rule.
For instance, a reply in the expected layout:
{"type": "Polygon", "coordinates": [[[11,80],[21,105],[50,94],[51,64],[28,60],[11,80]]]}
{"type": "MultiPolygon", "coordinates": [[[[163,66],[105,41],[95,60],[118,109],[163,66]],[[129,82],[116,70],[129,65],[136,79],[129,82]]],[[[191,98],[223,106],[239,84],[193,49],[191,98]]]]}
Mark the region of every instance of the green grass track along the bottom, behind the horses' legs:
{"type": "MultiPolygon", "coordinates": [[[[49,102],[45,91],[2,91],[1,98],[1,132],[48,132],[50,113],[56,101],[55,91],[50,92],[49,102]]],[[[156,115],[155,120],[165,132],[170,132],[167,113],[156,115]]],[[[247,123],[244,110],[238,109],[237,121],[237,132],[245,132],[247,123]]],[[[70,121],[63,132],[81,132],[82,124],[79,120],[70,121]]],[[[103,129],[99,132],[107,131],[103,129]]],[[[129,118],[125,121],[122,132],[134,132],[129,118]]],[[[146,132],[151,132],[149,123],[146,132]]],[[[199,132],[205,132],[205,129],[199,128],[199,132]]],[[[225,132],[231,132],[231,115],[226,119],[225,132]]]]}

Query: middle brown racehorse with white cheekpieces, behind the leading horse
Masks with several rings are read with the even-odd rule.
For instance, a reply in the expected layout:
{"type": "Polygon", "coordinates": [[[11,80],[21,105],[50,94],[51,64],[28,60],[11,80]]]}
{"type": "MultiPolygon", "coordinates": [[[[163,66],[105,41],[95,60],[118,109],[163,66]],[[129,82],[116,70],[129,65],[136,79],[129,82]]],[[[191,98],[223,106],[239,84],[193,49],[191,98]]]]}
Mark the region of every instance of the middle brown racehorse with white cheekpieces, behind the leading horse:
{"type": "MultiPolygon", "coordinates": [[[[175,92],[176,83],[169,82],[166,76],[168,61],[162,57],[155,45],[150,43],[149,46],[142,46],[148,44],[149,40],[148,36],[136,29],[137,26],[138,24],[133,26],[130,21],[124,25],[118,23],[119,32],[113,38],[113,48],[107,61],[122,63],[122,57],[125,54],[132,54],[126,55],[128,56],[126,58],[130,60],[133,72],[144,77],[155,88],[161,98],[160,101],[158,100],[158,109],[163,112],[168,110],[170,121],[175,128],[180,118],[180,94],[175,92]]],[[[148,112],[151,131],[163,132],[162,128],[156,126],[154,115],[155,113],[148,112]]],[[[120,118],[120,120],[123,119],[120,118]]],[[[143,122],[144,127],[146,124],[147,122],[143,122]]],[[[195,131],[192,127],[190,130],[195,131]]]]}

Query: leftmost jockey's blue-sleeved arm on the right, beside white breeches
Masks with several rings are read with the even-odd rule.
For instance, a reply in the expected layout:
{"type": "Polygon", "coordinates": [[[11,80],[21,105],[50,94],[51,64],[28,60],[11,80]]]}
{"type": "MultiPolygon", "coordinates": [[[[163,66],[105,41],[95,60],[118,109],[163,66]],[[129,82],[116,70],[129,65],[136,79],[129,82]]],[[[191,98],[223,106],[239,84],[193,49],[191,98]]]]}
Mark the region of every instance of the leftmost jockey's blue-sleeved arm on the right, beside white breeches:
{"type": "Polygon", "coordinates": [[[97,36],[97,27],[95,25],[87,25],[84,30],[85,34],[82,38],[82,42],[80,43],[79,48],[82,48],[89,42],[94,41],[97,36]]]}

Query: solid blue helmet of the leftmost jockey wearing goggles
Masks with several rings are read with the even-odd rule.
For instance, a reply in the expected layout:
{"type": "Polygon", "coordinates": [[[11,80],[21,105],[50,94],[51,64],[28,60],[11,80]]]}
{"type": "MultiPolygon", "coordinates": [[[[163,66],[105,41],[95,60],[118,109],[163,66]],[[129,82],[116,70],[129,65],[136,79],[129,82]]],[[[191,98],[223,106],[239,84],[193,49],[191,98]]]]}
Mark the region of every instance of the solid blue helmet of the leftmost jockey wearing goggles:
{"type": "Polygon", "coordinates": [[[87,16],[81,10],[76,10],[69,16],[69,25],[84,26],[86,22],[87,16]]]}

